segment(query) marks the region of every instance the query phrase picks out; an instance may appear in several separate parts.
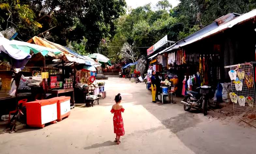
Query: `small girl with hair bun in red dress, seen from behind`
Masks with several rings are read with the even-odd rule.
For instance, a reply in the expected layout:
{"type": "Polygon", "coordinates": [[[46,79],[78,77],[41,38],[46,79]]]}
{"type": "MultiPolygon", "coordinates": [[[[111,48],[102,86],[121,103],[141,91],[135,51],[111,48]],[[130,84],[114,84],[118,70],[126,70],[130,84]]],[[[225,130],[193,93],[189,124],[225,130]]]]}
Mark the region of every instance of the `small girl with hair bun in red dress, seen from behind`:
{"type": "Polygon", "coordinates": [[[121,94],[115,96],[115,104],[112,106],[111,113],[114,113],[113,124],[114,124],[114,133],[116,134],[115,142],[120,144],[120,136],[125,135],[124,123],[121,112],[124,112],[125,109],[120,104],[122,100],[121,94]]]}

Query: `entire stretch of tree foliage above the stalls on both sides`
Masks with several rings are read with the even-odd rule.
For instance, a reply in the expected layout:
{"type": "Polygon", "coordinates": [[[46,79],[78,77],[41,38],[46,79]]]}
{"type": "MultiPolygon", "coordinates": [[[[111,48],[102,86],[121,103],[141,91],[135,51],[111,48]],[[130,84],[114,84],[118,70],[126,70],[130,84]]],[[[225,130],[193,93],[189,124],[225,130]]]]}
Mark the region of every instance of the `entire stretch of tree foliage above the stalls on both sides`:
{"type": "Polygon", "coordinates": [[[179,41],[223,15],[253,8],[255,0],[180,0],[176,7],[160,0],[134,9],[125,0],[0,0],[0,30],[11,27],[17,40],[40,35],[83,55],[99,51],[119,62],[125,43],[139,57],[165,35],[179,41]]]}

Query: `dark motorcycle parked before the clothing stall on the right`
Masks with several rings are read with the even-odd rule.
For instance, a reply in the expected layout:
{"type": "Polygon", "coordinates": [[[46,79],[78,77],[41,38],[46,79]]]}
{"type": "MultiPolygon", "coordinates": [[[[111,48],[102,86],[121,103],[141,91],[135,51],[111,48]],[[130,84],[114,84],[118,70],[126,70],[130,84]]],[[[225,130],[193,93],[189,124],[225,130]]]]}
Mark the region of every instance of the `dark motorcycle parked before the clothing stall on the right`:
{"type": "Polygon", "coordinates": [[[184,104],[185,111],[189,111],[191,108],[193,108],[197,110],[203,110],[203,115],[207,115],[209,92],[211,87],[201,86],[197,89],[199,89],[200,92],[188,90],[186,97],[181,101],[181,103],[184,104]]]}

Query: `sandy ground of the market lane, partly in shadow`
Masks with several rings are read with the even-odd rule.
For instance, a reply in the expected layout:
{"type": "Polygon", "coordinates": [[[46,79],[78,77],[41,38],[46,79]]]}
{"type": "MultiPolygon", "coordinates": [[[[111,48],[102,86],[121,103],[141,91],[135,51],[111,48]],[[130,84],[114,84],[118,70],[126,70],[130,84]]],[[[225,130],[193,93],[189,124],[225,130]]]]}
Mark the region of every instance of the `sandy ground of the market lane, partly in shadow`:
{"type": "Polygon", "coordinates": [[[1,134],[0,154],[247,154],[256,151],[253,127],[221,120],[213,112],[207,116],[196,111],[185,112],[179,99],[177,104],[153,104],[144,83],[114,77],[105,82],[107,98],[100,99],[99,105],[77,106],[67,119],[43,129],[1,134]],[[125,108],[126,132],[120,145],[113,142],[110,113],[117,93],[121,93],[125,108]]]}

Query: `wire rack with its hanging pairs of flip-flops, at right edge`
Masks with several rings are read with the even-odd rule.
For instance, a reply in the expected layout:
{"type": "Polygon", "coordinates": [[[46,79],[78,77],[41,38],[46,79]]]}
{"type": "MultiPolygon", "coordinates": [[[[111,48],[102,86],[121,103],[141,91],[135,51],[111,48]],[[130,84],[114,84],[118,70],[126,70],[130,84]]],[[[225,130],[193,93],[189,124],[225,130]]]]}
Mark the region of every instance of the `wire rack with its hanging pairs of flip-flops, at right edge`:
{"type": "Polygon", "coordinates": [[[251,63],[225,66],[230,68],[232,92],[229,93],[233,102],[234,115],[256,109],[254,70],[251,63]]]}

